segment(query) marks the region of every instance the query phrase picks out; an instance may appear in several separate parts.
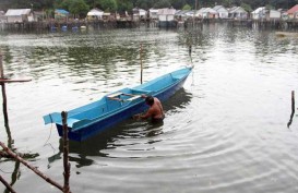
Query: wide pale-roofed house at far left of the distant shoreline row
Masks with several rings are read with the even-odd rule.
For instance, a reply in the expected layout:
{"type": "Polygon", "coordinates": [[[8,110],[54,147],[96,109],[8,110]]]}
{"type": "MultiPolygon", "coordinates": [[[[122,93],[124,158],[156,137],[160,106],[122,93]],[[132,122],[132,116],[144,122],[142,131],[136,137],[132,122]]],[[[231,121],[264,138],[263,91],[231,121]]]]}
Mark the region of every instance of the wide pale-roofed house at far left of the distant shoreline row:
{"type": "Polygon", "coordinates": [[[31,9],[9,9],[4,16],[8,23],[34,21],[34,14],[31,9]]]}

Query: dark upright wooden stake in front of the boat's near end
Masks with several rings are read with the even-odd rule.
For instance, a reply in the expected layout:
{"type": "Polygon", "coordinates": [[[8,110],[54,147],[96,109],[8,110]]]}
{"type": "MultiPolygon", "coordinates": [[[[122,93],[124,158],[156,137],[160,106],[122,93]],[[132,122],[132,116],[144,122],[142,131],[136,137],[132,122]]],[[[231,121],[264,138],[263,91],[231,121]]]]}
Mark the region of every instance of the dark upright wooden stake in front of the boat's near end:
{"type": "Polygon", "coordinates": [[[69,162],[69,137],[68,137],[68,112],[62,111],[62,124],[63,124],[63,166],[64,166],[64,186],[63,192],[70,193],[70,184],[69,184],[69,178],[70,178],[70,162],[69,162]]]}

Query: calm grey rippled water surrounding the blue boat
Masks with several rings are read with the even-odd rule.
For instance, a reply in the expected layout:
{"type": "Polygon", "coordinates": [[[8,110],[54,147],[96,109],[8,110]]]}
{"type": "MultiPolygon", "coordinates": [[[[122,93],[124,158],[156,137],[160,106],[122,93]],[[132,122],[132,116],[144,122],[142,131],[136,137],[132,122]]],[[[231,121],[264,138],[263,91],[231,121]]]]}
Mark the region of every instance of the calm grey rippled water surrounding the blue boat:
{"type": "MultiPolygon", "coordinates": [[[[71,142],[72,192],[298,191],[298,118],[287,128],[290,92],[298,95],[298,39],[274,32],[208,25],[0,35],[7,76],[33,80],[7,85],[10,124],[1,114],[0,141],[62,184],[61,142],[43,116],[138,85],[141,43],[144,81],[190,64],[187,44],[193,73],[164,102],[163,125],[128,120],[71,142]]],[[[25,166],[0,161],[16,192],[59,192],[25,166]]]]}

